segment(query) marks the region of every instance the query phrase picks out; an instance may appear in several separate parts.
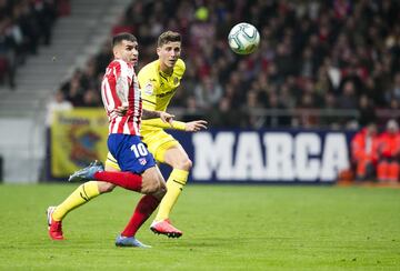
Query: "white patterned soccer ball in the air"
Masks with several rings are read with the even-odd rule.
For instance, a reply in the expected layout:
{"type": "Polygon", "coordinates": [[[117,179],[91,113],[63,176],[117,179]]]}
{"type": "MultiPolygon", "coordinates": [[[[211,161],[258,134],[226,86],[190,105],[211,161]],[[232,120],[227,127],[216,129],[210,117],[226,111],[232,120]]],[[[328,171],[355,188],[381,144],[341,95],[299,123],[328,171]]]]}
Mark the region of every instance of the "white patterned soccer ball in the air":
{"type": "Polygon", "coordinates": [[[229,32],[228,43],[233,52],[249,54],[258,48],[260,43],[260,33],[254,26],[241,22],[236,24],[229,32]]]}

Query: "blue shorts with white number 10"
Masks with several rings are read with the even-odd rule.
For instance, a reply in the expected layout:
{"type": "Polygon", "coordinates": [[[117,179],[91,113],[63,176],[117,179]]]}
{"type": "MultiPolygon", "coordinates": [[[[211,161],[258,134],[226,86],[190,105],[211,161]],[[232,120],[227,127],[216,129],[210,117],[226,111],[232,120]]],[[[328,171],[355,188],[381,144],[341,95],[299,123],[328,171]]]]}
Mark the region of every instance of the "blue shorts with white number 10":
{"type": "Polygon", "coordinates": [[[138,136],[111,133],[107,144],[111,154],[117,159],[121,171],[141,174],[156,165],[153,155],[138,136]]]}

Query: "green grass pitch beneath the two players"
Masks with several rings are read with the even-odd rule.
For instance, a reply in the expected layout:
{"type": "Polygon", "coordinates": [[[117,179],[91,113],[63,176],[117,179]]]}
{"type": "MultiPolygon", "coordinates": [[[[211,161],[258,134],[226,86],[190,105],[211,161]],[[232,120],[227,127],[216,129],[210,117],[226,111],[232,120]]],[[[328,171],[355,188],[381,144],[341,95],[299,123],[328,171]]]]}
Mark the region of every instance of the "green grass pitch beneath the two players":
{"type": "Polygon", "coordinates": [[[62,242],[44,210],[76,185],[0,185],[1,270],[400,270],[400,189],[188,185],[179,240],[116,248],[138,195],[116,190],[70,213],[62,242]]]}

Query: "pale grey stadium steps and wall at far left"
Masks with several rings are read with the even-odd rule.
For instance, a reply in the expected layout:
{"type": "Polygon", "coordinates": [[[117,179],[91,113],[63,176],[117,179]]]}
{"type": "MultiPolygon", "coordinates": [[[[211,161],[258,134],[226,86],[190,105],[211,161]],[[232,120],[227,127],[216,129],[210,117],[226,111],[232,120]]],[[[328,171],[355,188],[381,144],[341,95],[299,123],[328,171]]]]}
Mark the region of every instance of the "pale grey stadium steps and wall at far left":
{"type": "MultiPolygon", "coordinates": [[[[111,26],[129,2],[21,0],[0,1],[0,7],[8,7],[4,14],[12,14],[9,12],[10,7],[33,12],[27,7],[39,3],[57,4],[56,12],[60,16],[52,24],[50,44],[43,44],[46,31],[37,29],[39,36],[36,53],[27,51],[23,54],[23,63],[18,64],[14,72],[13,91],[7,80],[0,87],[0,126],[7,127],[0,133],[0,155],[4,163],[3,178],[9,181],[39,180],[46,150],[47,103],[60,88],[60,83],[71,77],[76,67],[84,66],[90,56],[99,50],[100,44],[109,37],[111,26]],[[20,167],[21,164],[24,167],[20,167]]],[[[34,18],[34,13],[31,17],[34,18]]],[[[7,19],[6,16],[4,20],[10,21],[10,18],[7,19]]],[[[14,47],[9,48],[16,50],[14,47]]]]}

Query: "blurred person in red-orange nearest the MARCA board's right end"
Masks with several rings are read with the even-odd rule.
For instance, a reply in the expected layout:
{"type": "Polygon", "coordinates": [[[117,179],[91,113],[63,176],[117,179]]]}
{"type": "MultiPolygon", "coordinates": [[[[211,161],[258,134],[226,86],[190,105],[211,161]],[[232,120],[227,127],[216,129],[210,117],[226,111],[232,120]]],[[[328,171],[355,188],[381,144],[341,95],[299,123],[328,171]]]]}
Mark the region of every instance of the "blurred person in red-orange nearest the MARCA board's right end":
{"type": "Polygon", "coordinates": [[[351,140],[351,157],[356,164],[356,180],[364,181],[374,178],[378,151],[377,126],[371,122],[351,140]]]}

